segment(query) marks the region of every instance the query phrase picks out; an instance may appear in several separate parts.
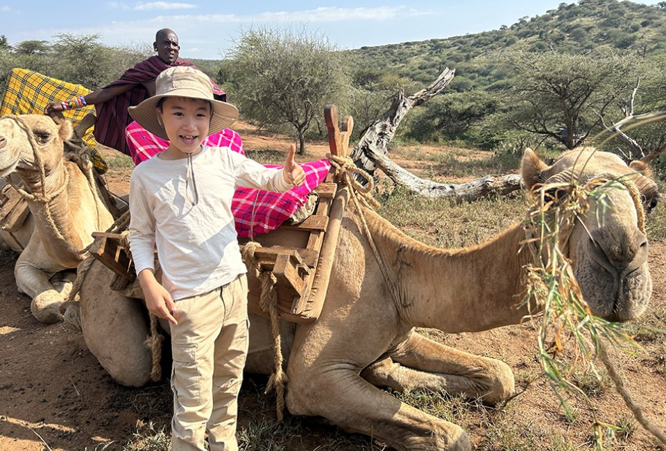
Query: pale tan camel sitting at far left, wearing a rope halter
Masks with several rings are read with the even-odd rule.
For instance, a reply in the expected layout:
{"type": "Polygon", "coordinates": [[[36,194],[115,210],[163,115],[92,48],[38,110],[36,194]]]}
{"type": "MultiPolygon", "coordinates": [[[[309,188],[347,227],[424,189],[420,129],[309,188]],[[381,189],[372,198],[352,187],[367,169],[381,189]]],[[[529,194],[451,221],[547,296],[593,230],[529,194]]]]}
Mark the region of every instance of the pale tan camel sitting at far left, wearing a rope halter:
{"type": "Polygon", "coordinates": [[[56,274],[76,269],[92,232],[113,223],[96,187],[76,162],[63,158],[71,136],[69,121],[56,124],[40,114],[0,119],[0,176],[22,180],[31,212],[11,239],[3,238],[21,253],[14,268],[17,287],[32,298],[31,311],[42,323],[62,318],[60,305],[71,288],[73,273],[65,278],[69,283],[62,277],[56,283],[56,274]]]}

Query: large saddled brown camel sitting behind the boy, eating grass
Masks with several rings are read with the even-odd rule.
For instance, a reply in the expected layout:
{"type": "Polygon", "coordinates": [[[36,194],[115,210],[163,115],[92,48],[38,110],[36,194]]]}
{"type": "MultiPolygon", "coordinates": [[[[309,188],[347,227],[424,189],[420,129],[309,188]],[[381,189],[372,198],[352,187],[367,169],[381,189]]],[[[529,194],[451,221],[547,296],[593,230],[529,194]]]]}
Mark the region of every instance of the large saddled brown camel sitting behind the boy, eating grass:
{"type": "MultiPolygon", "coordinates": [[[[522,158],[527,189],[561,181],[563,174],[575,174],[580,182],[628,174],[644,204],[654,206],[658,191],[639,172],[645,170],[640,162],[629,167],[616,155],[590,148],[566,153],[552,166],[529,149],[522,158]]],[[[613,207],[597,211],[592,201],[574,223],[565,253],[592,312],[630,321],[644,312],[651,296],[647,239],[637,226],[644,205],[626,189],[607,191],[613,207]]],[[[439,249],[407,237],[365,207],[349,206],[321,316],[314,323],[281,325],[289,412],[323,417],[396,450],[470,450],[461,427],[379,387],[443,390],[490,404],[509,398],[514,380],[504,362],[437,343],[415,327],[458,333],[520,323],[529,313],[527,306],[518,307],[525,292],[524,265],[533,259],[524,239],[523,224],[517,222],[484,244],[439,249]],[[360,212],[379,259],[362,231],[360,212]]],[[[146,314],[140,301],[124,296],[129,293],[109,288],[112,278],[99,262],[89,269],[80,291],[83,336],[114,380],[140,386],[151,371],[144,346],[146,314]]],[[[251,316],[250,323],[246,370],[270,374],[269,322],[251,316]]]]}

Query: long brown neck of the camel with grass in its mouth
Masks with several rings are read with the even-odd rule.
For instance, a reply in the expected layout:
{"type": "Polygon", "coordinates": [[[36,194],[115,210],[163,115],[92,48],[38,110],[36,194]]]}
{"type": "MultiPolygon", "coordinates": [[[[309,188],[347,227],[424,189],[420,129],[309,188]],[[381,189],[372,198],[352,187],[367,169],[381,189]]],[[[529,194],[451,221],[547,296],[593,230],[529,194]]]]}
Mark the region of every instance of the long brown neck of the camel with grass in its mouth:
{"type": "Polygon", "coordinates": [[[441,250],[413,240],[370,214],[368,224],[391,275],[402,318],[445,332],[488,330],[515,324],[527,314],[520,250],[524,230],[515,224],[472,248],[441,250]]]}

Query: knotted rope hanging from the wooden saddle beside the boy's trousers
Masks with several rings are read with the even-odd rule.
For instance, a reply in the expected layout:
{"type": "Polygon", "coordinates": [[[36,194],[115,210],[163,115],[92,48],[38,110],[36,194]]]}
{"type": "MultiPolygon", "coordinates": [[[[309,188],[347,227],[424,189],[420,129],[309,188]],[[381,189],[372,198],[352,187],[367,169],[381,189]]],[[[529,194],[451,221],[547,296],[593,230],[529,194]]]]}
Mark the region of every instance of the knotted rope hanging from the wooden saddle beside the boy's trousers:
{"type": "Polygon", "coordinates": [[[261,264],[255,259],[255,250],[262,247],[257,241],[249,241],[243,248],[242,255],[248,268],[255,271],[257,280],[261,283],[261,297],[259,298],[259,307],[264,312],[268,312],[271,318],[271,333],[273,334],[273,364],[275,372],[271,374],[266,384],[266,391],[269,393],[275,387],[277,398],[278,421],[284,418],[284,387],[287,385],[287,374],[282,371],[282,338],[280,337],[280,318],[278,318],[278,292],[275,291],[275,284],[278,280],[272,271],[262,271],[261,264]]]}

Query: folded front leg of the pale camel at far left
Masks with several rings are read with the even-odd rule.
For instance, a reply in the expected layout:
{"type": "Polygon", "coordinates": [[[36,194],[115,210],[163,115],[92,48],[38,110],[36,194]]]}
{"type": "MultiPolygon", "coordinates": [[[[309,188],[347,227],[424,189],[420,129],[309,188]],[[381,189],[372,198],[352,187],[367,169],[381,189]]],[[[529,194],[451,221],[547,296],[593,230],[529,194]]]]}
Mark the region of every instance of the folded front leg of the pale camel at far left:
{"type": "Polygon", "coordinates": [[[55,323],[62,319],[60,304],[65,301],[49,281],[52,273],[44,272],[31,262],[26,252],[28,248],[19,255],[14,266],[14,277],[16,285],[22,293],[32,298],[30,309],[33,316],[42,323],[55,323]]]}

